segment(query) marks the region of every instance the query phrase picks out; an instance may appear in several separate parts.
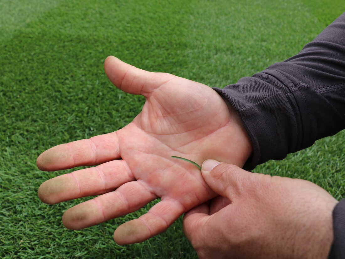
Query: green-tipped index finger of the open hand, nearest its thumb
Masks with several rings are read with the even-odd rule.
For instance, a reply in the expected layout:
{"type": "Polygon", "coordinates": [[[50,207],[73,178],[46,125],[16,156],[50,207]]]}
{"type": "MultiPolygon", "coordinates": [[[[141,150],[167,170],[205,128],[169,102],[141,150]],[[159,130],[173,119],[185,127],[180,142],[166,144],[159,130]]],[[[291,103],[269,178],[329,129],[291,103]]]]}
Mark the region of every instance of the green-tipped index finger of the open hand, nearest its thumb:
{"type": "Polygon", "coordinates": [[[42,171],[56,171],[119,158],[118,135],[111,132],[51,147],[38,156],[36,163],[42,171]]]}

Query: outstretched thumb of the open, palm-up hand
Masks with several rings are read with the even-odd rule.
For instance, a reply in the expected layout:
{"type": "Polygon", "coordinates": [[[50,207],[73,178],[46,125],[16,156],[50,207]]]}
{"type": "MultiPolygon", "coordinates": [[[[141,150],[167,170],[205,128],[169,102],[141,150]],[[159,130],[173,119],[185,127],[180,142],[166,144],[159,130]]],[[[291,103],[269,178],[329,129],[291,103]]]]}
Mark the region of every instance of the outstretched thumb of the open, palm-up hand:
{"type": "Polygon", "coordinates": [[[174,77],[167,73],[155,73],[136,68],[114,56],[106,58],[104,70],[110,81],[120,90],[146,97],[174,77]]]}

